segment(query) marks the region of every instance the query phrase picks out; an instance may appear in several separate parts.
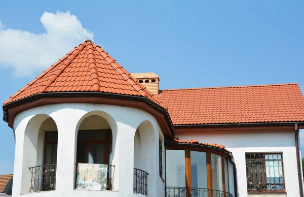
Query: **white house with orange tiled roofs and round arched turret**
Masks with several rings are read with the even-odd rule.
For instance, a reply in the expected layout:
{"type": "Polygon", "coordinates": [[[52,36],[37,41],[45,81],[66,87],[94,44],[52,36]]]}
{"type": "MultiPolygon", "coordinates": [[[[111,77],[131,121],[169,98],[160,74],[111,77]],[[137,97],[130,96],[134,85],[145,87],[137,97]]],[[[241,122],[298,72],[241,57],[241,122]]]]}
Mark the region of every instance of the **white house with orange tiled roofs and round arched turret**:
{"type": "Polygon", "coordinates": [[[12,196],[303,196],[298,84],[159,81],[86,40],[10,96],[12,196]]]}

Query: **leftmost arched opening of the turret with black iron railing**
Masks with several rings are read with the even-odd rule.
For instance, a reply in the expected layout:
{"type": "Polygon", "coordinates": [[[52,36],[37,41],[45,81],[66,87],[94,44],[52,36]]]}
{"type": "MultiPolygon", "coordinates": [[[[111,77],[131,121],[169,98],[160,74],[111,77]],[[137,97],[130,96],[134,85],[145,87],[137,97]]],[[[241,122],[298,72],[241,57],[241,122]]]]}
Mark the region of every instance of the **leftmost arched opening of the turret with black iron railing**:
{"type": "Polygon", "coordinates": [[[31,118],[24,133],[21,193],[55,190],[57,142],[57,125],[50,116],[31,118]]]}

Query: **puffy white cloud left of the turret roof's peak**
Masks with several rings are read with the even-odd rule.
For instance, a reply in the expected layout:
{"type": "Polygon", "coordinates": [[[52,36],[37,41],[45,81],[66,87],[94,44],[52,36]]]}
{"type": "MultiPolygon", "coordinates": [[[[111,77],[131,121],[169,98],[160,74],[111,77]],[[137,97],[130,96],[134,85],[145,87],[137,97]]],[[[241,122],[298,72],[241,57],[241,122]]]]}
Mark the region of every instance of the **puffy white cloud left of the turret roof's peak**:
{"type": "Polygon", "coordinates": [[[0,21],[0,67],[11,67],[18,77],[46,69],[94,34],[70,12],[45,12],[40,21],[44,34],[10,29],[0,21]]]}

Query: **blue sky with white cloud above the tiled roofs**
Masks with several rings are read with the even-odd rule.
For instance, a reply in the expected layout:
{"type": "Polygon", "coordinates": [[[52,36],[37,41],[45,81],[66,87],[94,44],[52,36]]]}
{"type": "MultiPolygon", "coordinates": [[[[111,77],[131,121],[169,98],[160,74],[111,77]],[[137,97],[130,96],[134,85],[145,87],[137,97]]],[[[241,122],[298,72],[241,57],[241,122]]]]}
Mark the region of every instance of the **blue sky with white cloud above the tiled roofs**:
{"type": "MultiPolygon", "coordinates": [[[[157,73],[161,89],[297,82],[304,91],[303,7],[257,0],[4,1],[0,101],[86,38],[131,73],[157,73]]],[[[0,139],[0,174],[13,173],[14,136],[4,121],[0,139]]]]}

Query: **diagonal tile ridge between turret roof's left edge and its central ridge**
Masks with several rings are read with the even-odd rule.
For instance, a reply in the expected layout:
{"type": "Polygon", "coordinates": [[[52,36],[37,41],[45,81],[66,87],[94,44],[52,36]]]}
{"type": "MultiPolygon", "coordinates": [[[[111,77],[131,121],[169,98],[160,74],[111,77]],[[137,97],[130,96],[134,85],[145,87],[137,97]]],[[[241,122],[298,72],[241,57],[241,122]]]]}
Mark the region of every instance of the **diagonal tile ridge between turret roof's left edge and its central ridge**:
{"type": "Polygon", "coordinates": [[[81,50],[83,50],[85,47],[84,43],[80,44],[78,47],[76,47],[76,49],[70,53],[65,59],[64,61],[62,61],[61,66],[53,73],[53,75],[45,82],[41,85],[41,88],[37,91],[38,93],[43,93],[48,87],[49,85],[51,85],[55,79],[66,69],[66,67],[71,63],[71,61],[80,53],[81,50]],[[82,47],[81,47],[82,46],[82,47]],[[74,57],[71,57],[72,55],[74,55],[74,57]]]}

